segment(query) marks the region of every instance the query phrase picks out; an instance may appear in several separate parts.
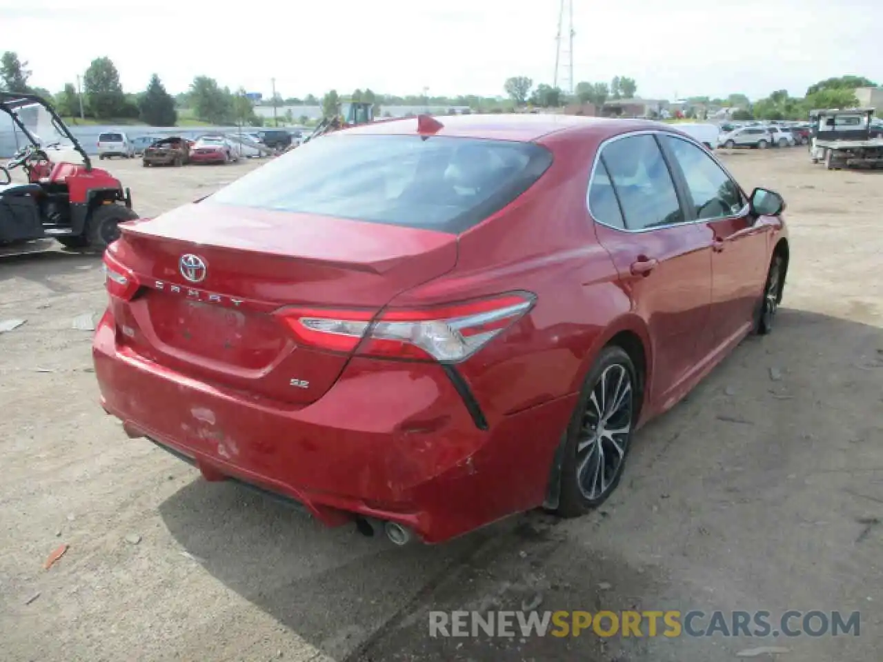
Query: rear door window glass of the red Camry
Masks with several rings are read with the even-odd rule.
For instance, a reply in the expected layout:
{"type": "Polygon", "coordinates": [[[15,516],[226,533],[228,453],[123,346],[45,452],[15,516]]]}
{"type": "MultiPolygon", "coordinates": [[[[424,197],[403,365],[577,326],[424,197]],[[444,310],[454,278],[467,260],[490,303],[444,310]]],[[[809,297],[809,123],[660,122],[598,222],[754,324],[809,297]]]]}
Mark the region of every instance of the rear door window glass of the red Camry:
{"type": "Polygon", "coordinates": [[[649,229],[684,221],[675,183],[650,134],[617,139],[601,158],[623,210],[627,229],[649,229]]]}

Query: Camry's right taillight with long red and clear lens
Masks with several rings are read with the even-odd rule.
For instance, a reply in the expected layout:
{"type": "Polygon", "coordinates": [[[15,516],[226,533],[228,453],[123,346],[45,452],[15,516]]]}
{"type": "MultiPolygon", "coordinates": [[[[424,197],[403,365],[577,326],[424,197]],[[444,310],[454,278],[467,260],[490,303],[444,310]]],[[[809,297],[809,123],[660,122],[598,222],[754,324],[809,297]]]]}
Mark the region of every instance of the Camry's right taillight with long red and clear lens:
{"type": "Polygon", "coordinates": [[[320,350],[457,363],[528,312],[528,292],[422,310],[371,312],[285,308],[278,314],[301,344],[320,350]]]}

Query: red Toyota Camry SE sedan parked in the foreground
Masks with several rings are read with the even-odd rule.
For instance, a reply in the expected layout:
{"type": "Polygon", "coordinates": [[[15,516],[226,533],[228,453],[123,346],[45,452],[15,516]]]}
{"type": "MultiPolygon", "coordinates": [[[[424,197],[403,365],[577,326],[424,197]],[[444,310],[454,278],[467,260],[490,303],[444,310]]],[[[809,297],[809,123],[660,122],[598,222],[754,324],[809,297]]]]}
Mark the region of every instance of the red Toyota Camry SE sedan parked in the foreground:
{"type": "Polygon", "coordinates": [[[122,227],[102,405],[209,480],[447,540],[585,513],[789,266],[781,197],[638,120],[419,117],[122,227]]]}

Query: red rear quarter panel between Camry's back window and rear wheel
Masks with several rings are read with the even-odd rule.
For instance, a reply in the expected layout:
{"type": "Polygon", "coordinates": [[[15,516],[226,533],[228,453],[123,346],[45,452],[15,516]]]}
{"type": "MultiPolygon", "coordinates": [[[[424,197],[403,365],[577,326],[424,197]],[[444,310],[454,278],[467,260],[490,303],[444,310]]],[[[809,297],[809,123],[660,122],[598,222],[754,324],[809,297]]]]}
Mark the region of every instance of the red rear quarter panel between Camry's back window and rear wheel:
{"type": "Polygon", "coordinates": [[[566,132],[543,144],[555,154],[546,174],[460,236],[453,271],[393,302],[426,305],[510,290],[537,296],[531,312],[458,365],[489,420],[577,392],[610,337],[624,329],[642,334],[585,204],[597,140],[566,132]]]}

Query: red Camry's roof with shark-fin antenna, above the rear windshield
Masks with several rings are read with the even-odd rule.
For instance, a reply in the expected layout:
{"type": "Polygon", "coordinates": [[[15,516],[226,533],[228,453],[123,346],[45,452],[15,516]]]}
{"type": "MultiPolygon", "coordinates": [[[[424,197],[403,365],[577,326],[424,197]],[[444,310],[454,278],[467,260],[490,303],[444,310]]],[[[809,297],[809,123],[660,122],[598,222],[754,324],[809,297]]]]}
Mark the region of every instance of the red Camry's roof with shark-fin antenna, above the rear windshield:
{"type": "MultiPolygon", "coordinates": [[[[544,114],[488,114],[488,115],[445,115],[433,117],[442,124],[434,132],[435,136],[455,138],[502,139],[519,142],[537,140],[549,133],[565,130],[613,135],[626,130],[658,128],[667,126],[641,119],[611,119],[607,117],[585,117],[581,115],[544,114]]],[[[417,117],[381,120],[346,129],[348,134],[359,135],[416,135],[417,117]]]]}

